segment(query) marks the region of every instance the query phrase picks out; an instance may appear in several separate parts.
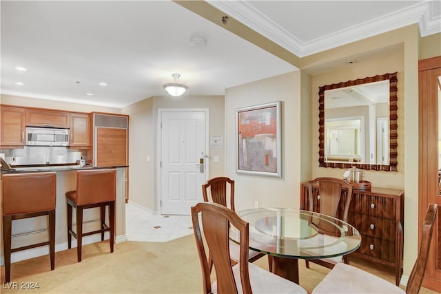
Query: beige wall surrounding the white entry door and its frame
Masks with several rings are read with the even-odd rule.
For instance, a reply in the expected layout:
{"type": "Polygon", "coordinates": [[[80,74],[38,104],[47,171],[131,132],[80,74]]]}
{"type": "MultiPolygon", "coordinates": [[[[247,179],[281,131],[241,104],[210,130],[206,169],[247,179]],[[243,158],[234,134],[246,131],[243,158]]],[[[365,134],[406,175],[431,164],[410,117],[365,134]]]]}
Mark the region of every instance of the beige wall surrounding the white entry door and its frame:
{"type": "MultiPolygon", "coordinates": [[[[147,98],[123,108],[130,115],[129,134],[129,197],[153,213],[157,211],[157,114],[165,108],[208,109],[209,136],[222,136],[225,140],[223,96],[157,96],[147,98]],[[150,161],[147,161],[150,156],[150,161]]],[[[208,138],[207,138],[208,140],[208,138]]],[[[225,146],[225,144],[224,144],[225,146]]],[[[209,149],[209,178],[225,175],[225,147],[209,149]],[[219,156],[220,162],[214,162],[219,156]]]]}

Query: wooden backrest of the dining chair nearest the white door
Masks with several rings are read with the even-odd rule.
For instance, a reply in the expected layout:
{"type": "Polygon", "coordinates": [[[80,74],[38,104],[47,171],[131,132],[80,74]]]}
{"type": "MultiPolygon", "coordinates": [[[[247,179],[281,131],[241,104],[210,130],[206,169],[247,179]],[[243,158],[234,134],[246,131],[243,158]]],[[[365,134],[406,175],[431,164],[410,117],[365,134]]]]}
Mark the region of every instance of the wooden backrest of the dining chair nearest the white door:
{"type": "Polygon", "coordinates": [[[202,196],[205,202],[222,204],[223,206],[229,207],[229,209],[235,211],[234,180],[230,178],[217,177],[208,180],[204,185],[202,185],[202,196]]]}

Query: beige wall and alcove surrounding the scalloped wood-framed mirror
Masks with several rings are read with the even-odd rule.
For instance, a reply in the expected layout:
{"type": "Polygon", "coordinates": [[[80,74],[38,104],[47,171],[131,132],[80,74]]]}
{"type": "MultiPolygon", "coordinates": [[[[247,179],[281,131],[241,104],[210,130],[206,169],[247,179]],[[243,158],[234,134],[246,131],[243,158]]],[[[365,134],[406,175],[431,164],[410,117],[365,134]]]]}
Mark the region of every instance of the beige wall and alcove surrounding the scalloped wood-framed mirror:
{"type": "MultiPolygon", "coordinates": [[[[313,130],[320,85],[398,72],[398,171],[366,171],[365,179],[373,186],[404,189],[405,276],[418,252],[418,42],[418,25],[409,25],[302,59],[302,70],[312,76],[313,130]]],[[[318,167],[318,134],[312,136],[311,164],[313,178],[342,176],[342,169],[318,167]]]]}

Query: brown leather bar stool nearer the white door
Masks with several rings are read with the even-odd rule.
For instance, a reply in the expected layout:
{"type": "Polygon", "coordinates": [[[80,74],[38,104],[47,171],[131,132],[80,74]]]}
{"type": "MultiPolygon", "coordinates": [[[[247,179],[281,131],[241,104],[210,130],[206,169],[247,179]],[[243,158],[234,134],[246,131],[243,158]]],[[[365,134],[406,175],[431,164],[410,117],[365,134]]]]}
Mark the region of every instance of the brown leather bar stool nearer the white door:
{"type": "Polygon", "coordinates": [[[113,252],[115,232],[116,169],[88,169],[76,172],[76,190],[66,193],[68,200],[68,248],[76,238],[76,254],[81,262],[83,237],[110,231],[110,253],[113,252]],[[105,224],[105,207],[109,206],[109,225],[105,224]],[[83,209],[100,208],[100,229],[83,233],[83,209]],[[76,233],[72,231],[72,208],[76,210],[76,233]]]}

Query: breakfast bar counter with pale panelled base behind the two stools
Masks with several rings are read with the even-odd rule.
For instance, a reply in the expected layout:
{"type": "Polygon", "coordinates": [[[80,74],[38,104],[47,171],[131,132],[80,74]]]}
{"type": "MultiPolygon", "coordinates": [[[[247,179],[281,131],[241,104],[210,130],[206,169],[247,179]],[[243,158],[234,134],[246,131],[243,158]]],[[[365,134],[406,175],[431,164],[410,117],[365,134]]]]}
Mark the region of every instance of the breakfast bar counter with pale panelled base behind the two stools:
{"type": "MultiPolygon", "coordinates": [[[[32,166],[32,167],[13,167],[8,171],[1,171],[1,174],[16,173],[39,173],[43,171],[54,171],[57,173],[57,207],[56,215],[56,233],[55,233],[55,251],[68,249],[68,224],[67,224],[67,204],[65,193],[76,189],[76,171],[81,169],[116,169],[116,231],[115,242],[127,240],[125,235],[125,193],[127,183],[127,166],[112,167],[92,167],[92,165],[54,165],[54,166],[32,166]]],[[[1,183],[1,180],[0,180],[1,183]]],[[[3,200],[3,193],[0,185],[0,200],[3,200]]],[[[1,212],[1,205],[0,205],[1,212]]],[[[107,219],[107,218],[106,218],[107,219]]],[[[94,231],[99,227],[99,208],[88,209],[83,216],[83,231],[94,231]]],[[[74,221],[74,223],[76,223],[74,221]]],[[[75,227],[75,225],[74,225],[75,227]]],[[[3,235],[3,224],[0,218],[0,230],[3,235]]],[[[74,228],[75,229],[75,228],[74,228]]],[[[48,221],[45,217],[28,218],[23,220],[14,220],[12,222],[12,248],[25,246],[30,243],[45,242],[49,238],[48,221]]],[[[106,235],[105,238],[109,238],[106,235]]],[[[83,238],[83,245],[94,242],[101,242],[99,235],[90,235],[83,238]]],[[[76,247],[76,240],[72,240],[72,247],[76,247]]],[[[34,258],[40,255],[47,255],[48,246],[28,249],[12,253],[11,261],[17,262],[28,258],[34,258]]],[[[3,242],[1,242],[1,265],[4,264],[3,242]]]]}

